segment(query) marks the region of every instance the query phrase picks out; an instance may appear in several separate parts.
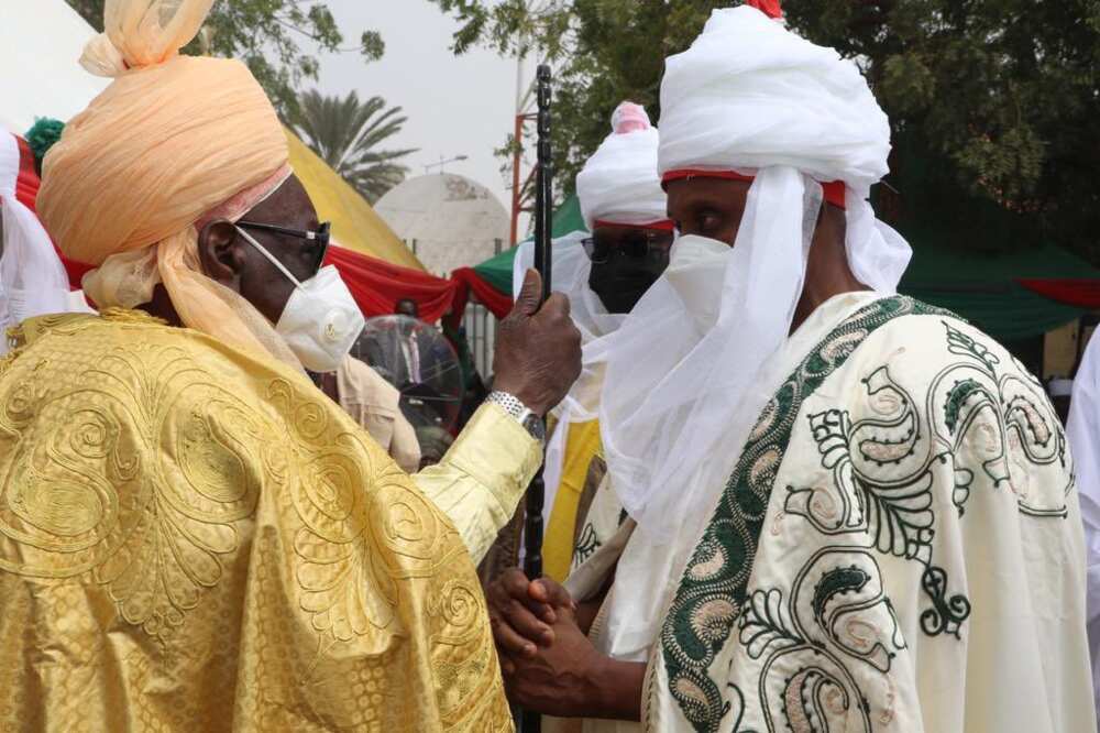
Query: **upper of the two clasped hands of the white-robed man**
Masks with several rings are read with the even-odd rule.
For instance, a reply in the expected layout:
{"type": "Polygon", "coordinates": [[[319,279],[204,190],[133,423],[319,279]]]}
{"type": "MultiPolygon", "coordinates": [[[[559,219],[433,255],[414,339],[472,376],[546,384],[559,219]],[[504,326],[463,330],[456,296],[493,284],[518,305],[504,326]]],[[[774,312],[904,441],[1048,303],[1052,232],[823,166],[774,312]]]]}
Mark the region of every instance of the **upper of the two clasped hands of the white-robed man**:
{"type": "Polygon", "coordinates": [[[531,581],[519,568],[505,570],[485,593],[493,638],[503,652],[534,657],[538,646],[553,644],[551,628],[562,611],[575,604],[569,591],[550,578],[531,581]]]}

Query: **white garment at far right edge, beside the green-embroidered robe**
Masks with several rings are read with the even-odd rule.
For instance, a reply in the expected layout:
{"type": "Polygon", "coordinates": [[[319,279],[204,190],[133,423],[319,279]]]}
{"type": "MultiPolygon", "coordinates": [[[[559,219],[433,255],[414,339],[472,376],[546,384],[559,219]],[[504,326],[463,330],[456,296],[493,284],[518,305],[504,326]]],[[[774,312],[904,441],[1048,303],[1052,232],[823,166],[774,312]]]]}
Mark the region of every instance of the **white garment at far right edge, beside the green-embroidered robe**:
{"type": "Polygon", "coordinates": [[[1085,524],[1086,613],[1089,653],[1092,658],[1092,689],[1100,712],[1100,338],[1089,341],[1085,359],[1074,380],[1066,437],[1074,455],[1077,496],[1085,524]]]}

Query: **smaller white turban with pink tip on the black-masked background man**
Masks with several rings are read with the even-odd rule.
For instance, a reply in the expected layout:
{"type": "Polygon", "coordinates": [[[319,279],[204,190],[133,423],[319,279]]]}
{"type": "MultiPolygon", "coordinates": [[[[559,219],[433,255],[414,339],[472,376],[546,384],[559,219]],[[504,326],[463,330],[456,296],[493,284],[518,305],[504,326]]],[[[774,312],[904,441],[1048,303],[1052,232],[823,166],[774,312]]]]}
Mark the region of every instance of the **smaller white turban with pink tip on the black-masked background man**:
{"type": "Polygon", "coordinates": [[[576,176],[584,223],[651,225],[668,218],[657,176],[660,135],[645,108],[623,102],[612,116],[612,134],[576,176]]]}

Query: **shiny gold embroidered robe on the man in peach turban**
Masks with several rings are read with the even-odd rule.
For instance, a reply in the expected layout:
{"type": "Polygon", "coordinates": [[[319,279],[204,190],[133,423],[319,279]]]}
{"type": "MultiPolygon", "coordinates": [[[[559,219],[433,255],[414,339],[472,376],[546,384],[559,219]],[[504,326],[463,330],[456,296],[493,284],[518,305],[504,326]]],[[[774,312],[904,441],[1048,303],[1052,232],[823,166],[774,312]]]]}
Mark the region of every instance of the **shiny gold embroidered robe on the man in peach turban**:
{"type": "Polygon", "coordinates": [[[454,527],[302,376],[133,311],[0,360],[0,727],[507,731],[454,527]]]}

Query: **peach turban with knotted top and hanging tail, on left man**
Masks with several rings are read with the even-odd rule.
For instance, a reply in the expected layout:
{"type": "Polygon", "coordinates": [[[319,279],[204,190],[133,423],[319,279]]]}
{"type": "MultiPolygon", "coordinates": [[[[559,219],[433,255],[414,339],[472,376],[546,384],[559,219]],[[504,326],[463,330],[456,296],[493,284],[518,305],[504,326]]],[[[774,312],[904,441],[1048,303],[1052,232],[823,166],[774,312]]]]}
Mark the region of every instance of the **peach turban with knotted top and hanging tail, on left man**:
{"type": "Polygon", "coordinates": [[[163,283],[185,326],[294,363],[199,265],[197,225],[215,209],[239,218],[289,175],[282,124],[248,67],[178,53],[212,4],[107,0],[107,30],[80,62],[114,81],[46,155],[38,215],[66,256],[98,265],[84,286],[101,308],[147,303],[163,283]]]}

